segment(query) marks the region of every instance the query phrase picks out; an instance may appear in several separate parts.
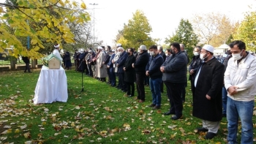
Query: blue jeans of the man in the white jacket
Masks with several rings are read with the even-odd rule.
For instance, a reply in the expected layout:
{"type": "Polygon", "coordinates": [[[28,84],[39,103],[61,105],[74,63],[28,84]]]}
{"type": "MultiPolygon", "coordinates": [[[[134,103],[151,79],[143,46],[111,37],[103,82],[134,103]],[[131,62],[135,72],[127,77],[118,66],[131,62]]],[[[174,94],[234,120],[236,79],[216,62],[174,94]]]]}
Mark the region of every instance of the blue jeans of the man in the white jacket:
{"type": "Polygon", "coordinates": [[[237,143],[238,117],[241,120],[241,143],[253,143],[252,115],[255,106],[254,100],[249,102],[236,101],[227,97],[227,141],[237,143]]]}

